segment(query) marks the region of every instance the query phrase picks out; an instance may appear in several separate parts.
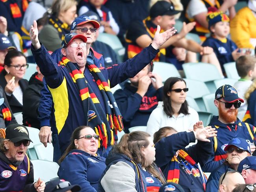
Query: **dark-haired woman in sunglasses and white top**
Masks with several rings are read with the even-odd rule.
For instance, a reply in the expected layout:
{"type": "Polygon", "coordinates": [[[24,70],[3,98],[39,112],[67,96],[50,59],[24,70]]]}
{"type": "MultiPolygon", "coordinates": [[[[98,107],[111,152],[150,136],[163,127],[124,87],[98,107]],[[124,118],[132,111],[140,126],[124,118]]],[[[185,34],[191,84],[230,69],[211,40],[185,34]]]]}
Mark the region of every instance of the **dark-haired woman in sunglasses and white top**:
{"type": "Polygon", "coordinates": [[[193,129],[198,122],[197,112],[188,106],[186,95],[188,88],[182,78],[168,78],[163,85],[163,102],[152,111],[147,123],[147,133],[153,135],[161,127],[173,127],[178,132],[193,129]]]}

